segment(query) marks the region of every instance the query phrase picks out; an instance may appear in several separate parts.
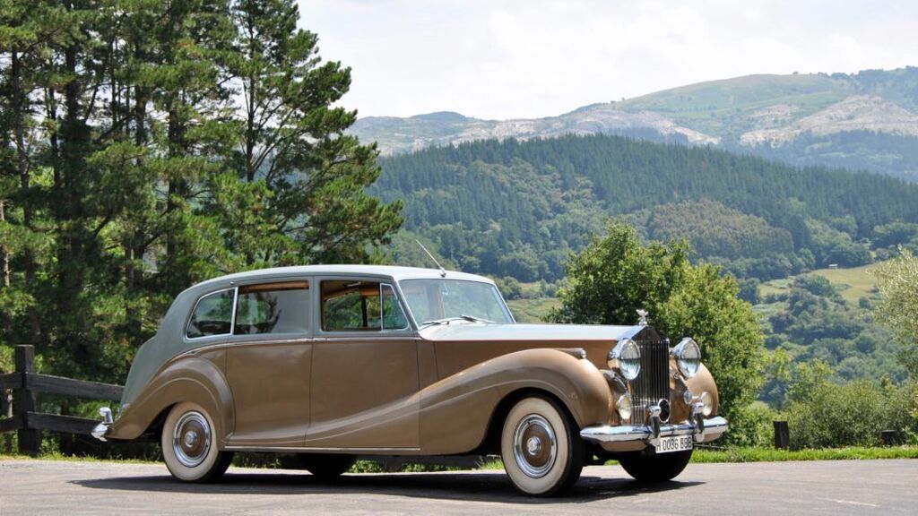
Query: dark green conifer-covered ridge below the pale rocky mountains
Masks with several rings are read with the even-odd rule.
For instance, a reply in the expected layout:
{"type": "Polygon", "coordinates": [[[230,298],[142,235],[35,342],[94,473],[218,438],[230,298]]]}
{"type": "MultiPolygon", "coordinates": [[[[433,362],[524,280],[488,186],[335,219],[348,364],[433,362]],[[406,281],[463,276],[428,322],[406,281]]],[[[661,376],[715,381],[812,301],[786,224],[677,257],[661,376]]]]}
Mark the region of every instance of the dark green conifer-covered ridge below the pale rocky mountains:
{"type": "Polygon", "coordinates": [[[616,136],[483,140],[380,161],[373,192],[463,270],[554,281],[610,216],[740,277],[868,263],[915,243],[918,186],[616,136]],[[879,250],[879,252],[884,252],[879,250]]]}

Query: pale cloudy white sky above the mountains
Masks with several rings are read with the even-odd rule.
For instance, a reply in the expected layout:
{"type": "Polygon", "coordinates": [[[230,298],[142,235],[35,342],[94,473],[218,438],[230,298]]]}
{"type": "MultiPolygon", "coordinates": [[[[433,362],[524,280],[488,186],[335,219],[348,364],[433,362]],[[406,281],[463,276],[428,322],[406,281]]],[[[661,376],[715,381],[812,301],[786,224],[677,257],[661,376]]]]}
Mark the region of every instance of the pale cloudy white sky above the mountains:
{"type": "Polygon", "coordinates": [[[539,118],[752,73],[918,66],[918,2],[298,0],[360,117],[539,118]]]}

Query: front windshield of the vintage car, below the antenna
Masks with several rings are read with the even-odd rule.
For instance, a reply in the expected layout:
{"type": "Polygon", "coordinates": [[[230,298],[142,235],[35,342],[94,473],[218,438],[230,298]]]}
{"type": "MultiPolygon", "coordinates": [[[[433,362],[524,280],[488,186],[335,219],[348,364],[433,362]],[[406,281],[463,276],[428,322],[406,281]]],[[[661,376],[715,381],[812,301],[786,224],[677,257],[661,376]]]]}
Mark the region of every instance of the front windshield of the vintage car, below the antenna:
{"type": "Polygon", "coordinates": [[[512,322],[496,286],[456,279],[407,279],[398,283],[419,325],[445,319],[512,322]]]}

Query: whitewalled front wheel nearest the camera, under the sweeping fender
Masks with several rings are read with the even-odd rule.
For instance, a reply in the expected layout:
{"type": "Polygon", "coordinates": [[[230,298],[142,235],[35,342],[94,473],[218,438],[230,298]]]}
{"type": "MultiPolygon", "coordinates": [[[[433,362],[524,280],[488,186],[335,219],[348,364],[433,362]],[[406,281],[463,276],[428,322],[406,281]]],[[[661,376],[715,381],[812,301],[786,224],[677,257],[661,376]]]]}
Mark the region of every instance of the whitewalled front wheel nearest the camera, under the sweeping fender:
{"type": "Polygon", "coordinates": [[[523,398],[510,409],[500,455],[513,487],[547,497],[564,492],[583,470],[584,443],[577,425],[547,398],[523,398]]]}

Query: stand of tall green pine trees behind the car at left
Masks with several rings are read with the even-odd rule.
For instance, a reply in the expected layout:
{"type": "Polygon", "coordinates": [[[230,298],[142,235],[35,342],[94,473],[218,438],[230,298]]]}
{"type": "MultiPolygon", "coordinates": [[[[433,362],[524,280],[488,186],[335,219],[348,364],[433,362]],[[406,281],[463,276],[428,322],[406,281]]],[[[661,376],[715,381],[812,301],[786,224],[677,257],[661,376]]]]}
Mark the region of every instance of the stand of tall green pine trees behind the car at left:
{"type": "Polygon", "coordinates": [[[350,71],[296,20],[291,2],[0,0],[0,366],[32,342],[45,371],[122,381],[187,286],[376,257],[400,205],[364,193],[375,148],[331,107],[350,71]]]}

